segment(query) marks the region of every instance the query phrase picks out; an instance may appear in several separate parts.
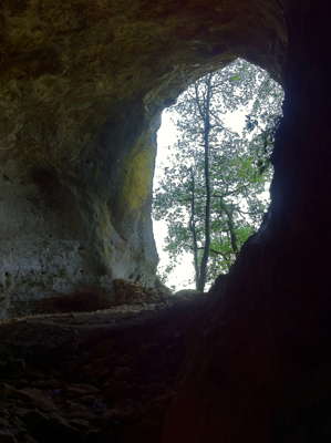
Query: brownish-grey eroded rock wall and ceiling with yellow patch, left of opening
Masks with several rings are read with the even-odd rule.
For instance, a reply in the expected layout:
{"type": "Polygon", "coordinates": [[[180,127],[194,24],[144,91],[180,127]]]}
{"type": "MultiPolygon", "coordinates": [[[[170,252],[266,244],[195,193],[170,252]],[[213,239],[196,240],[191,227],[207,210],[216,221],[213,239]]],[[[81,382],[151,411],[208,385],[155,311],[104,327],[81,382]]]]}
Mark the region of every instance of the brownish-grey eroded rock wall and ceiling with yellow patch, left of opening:
{"type": "Polygon", "coordinates": [[[159,112],[237,55],[280,78],[281,8],[4,0],[0,24],[2,316],[113,278],[153,285],[159,112]]]}

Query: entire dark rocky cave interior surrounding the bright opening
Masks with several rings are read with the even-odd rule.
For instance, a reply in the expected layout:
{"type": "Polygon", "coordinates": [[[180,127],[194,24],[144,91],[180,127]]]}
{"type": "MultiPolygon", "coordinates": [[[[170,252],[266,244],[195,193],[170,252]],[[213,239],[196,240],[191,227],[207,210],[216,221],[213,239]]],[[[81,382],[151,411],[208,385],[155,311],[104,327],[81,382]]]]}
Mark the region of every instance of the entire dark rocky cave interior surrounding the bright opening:
{"type": "Polygon", "coordinates": [[[4,0],[0,23],[0,439],[329,442],[328,2],[4,0]],[[31,316],[157,285],[161,112],[237,56],[286,100],[271,206],[226,281],[121,321],[31,316]]]}

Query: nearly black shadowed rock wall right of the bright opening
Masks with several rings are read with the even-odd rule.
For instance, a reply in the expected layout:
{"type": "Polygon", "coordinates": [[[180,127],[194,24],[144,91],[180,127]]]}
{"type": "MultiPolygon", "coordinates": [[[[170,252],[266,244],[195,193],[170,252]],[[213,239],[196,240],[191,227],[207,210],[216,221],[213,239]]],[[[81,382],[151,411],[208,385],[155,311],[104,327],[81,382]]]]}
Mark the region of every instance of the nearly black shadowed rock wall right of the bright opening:
{"type": "Polygon", "coordinates": [[[330,440],[327,2],[285,2],[285,116],[269,218],[216,286],[164,442],[330,440]]]}

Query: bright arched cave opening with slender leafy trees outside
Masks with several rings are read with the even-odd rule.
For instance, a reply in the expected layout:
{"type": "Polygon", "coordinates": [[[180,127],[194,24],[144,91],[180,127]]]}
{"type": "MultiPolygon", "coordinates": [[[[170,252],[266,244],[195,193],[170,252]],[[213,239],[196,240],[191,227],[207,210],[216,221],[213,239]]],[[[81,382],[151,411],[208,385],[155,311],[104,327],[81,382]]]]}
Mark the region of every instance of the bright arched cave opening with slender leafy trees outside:
{"type": "Polygon", "coordinates": [[[208,289],[260,226],[282,101],[265,70],[237,59],[164,111],[153,215],[158,274],[173,290],[208,289]]]}

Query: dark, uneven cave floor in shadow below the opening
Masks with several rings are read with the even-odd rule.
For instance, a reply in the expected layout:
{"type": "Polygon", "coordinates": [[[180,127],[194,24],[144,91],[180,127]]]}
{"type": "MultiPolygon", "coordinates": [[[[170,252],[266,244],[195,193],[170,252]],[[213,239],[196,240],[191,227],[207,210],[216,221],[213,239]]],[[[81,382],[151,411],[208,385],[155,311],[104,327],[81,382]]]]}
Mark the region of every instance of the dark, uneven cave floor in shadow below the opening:
{"type": "Polygon", "coordinates": [[[0,442],[157,442],[205,297],[0,324],[0,442]]]}

